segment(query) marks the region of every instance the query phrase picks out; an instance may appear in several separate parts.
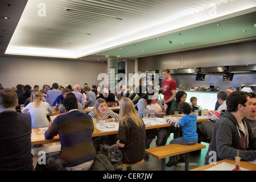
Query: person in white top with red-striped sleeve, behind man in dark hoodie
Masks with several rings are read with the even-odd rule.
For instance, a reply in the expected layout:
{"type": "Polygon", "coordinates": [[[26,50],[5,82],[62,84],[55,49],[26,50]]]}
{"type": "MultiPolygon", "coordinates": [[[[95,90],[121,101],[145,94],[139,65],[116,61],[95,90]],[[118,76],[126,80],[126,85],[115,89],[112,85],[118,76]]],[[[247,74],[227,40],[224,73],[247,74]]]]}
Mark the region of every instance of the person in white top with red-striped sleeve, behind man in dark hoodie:
{"type": "Polygon", "coordinates": [[[209,110],[209,112],[207,114],[207,116],[212,121],[216,121],[217,119],[220,118],[221,110],[226,110],[226,97],[228,97],[228,94],[226,94],[226,92],[224,92],[224,91],[221,91],[217,94],[217,100],[218,100],[218,104],[220,104],[220,106],[218,107],[218,109],[216,111],[209,110]]]}

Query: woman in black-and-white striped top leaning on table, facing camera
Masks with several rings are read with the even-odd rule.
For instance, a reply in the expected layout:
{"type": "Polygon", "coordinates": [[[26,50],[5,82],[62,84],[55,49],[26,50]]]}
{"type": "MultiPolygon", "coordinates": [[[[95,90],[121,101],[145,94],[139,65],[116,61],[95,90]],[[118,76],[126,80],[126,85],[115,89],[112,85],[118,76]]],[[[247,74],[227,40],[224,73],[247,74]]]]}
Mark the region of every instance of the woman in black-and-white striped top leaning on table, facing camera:
{"type": "Polygon", "coordinates": [[[96,118],[96,122],[105,119],[105,122],[119,121],[119,115],[108,108],[108,104],[103,98],[98,98],[94,104],[94,108],[89,115],[96,118]]]}

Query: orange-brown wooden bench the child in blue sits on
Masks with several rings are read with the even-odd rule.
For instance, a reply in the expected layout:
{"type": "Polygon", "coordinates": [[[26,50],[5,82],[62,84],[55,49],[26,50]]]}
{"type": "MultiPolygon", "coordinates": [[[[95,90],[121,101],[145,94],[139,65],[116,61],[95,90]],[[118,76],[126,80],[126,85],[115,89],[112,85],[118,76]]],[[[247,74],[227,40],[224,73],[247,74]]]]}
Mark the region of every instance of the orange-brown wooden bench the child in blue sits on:
{"type": "Polygon", "coordinates": [[[205,147],[205,145],[200,143],[192,145],[168,144],[166,146],[148,148],[145,152],[156,159],[162,159],[162,171],[166,170],[166,158],[174,155],[185,154],[185,170],[187,171],[189,164],[189,152],[200,150],[205,147]]]}

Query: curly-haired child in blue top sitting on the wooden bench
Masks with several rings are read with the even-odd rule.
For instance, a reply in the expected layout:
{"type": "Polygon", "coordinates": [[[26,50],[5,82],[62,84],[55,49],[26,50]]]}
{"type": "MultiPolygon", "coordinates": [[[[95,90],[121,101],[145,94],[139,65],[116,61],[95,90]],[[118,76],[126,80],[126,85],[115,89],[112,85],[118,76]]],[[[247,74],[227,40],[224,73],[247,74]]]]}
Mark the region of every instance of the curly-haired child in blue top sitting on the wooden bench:
{"type": "MultiPolygon", "coordinates": [[[[175,138],[170,141],[170,144],[196,144],[198,135],[196,133],[196,114],[191,114],[192,108],[187,102],[179,104],[179,110],[185,114],[179,122],[170,121],[166,118],[166,122],[170,123],[174,127],[182,127],[182,137],[175,138]]],[[[180,155],[180,159],[177,161],[176,155],[169,158],[169,162],[166,167],[171,167],[177,164],[177,162],[184,162],[185,154],[180,155]]]]}

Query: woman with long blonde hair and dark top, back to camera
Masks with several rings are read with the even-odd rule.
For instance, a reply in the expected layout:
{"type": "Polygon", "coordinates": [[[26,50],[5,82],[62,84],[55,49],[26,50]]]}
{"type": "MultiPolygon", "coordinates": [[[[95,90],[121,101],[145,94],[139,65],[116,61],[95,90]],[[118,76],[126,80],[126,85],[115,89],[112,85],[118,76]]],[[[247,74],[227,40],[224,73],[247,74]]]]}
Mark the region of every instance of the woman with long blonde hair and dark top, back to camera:
{"type": "Polygon", "coordinates": [[[118,140],[113,146],[120,147],[123,163],[137,163],[144,158],[145,125],[130,98],[122,98],[119,105],[120,123],[117,134],[118,140]]]}

